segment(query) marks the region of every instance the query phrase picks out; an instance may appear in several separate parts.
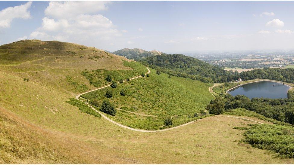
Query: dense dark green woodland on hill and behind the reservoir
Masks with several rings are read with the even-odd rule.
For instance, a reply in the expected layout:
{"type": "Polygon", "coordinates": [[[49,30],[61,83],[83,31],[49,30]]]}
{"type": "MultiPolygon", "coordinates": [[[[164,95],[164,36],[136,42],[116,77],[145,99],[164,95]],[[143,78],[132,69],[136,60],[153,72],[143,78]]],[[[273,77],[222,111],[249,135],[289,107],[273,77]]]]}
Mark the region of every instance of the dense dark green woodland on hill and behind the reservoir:
{"type": "Polygon", "coordinates": [[[141,63],[173,76],[191,78],[207,83],[231,82],[238,78],[242,80],[263,78],[294,83],[293,68],[264,68],[238,73],[233,72],[233,70],[226,71],[219,66],[182,54],[150,56],[141,60],[141,63]]]}

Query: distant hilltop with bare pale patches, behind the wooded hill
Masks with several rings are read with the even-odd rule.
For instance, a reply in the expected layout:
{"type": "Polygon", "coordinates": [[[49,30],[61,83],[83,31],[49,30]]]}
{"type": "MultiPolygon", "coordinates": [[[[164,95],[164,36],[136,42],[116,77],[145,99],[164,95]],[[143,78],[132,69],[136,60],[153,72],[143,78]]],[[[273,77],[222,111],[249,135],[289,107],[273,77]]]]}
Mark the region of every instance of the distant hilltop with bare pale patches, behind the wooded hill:
{"type": "Polygon", "coordinates": [[[142,60],[143,58],[146,58],[149,56],[163,54],[162,52],[158,50],[146,51],[139,48],[134,48],[134,49],[124,48],[124,49],[117,50],[113,53],[119,56],[127,57],[128,59],[131,59],[131,60],[136,60],[136,61],[142,60]]]}

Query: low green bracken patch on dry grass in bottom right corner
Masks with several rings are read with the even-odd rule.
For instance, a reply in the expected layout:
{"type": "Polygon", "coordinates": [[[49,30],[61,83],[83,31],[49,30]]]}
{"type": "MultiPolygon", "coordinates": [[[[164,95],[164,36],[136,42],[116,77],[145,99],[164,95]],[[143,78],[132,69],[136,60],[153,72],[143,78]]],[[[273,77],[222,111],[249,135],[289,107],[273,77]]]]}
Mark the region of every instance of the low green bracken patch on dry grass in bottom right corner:
{"type": "Polygon", "coordinates": [[[244,141],[256,148],[274,151],[282,158],[294,158],[293,127],[256,124],[244,136],[244,141]]]}

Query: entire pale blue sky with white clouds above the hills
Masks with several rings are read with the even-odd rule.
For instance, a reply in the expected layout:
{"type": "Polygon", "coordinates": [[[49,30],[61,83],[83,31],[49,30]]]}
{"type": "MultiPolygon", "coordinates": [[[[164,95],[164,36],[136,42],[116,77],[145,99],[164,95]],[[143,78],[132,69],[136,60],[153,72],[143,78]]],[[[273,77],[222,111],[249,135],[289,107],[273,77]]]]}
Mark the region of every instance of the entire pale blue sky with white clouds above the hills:
{"type": "Polygon", "coordinates": [[[0,44],[36,38],[115,51],[293,49],[294,2],[1,1],[0,44]]]}

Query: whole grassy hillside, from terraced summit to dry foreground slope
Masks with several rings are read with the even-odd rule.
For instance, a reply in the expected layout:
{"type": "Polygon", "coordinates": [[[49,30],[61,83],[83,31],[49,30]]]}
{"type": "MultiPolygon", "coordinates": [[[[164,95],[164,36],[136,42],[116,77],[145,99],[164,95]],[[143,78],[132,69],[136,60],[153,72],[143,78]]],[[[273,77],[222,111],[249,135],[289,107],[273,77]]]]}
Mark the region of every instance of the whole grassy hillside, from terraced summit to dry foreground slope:
{"type": "MultiPolygon", "coordinates": [[[[83,97],[101,103],[112,90],[109,100],[118,109],[109,118],[142,129],[160,128],[165,117],[174,124],[194,120],[192,114],[213,98],[212,84],[150,70],[149,77],[83,97]]],[[[109,84],[107,75],[117,82],[142,72],[147,69],[141,63],[79,44],[24,40],[0,46],[0,163],[293,163],[242,142],[245,130],[234,127],[273,125],[258,114],[233,111],[142,133],[85,113],[86,105],[74,99],[109,84]],[[69,104],[72,99],[80,104],[69,104]]]]}

